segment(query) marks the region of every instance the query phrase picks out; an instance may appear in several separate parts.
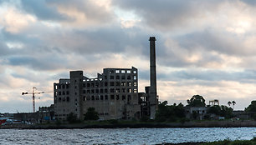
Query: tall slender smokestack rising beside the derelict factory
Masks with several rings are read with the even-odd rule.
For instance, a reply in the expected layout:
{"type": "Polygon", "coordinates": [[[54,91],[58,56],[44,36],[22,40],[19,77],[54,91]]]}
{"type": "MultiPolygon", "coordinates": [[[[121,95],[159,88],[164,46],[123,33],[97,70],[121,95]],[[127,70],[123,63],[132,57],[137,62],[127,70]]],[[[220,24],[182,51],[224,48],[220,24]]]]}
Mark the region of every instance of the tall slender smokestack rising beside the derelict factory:
{"type": "Polygon", "coordinates": [[[151,87],[149,91],[149,101],[151,105],[151,118],[155,118],[157,107],[156,94],[156,37],[150,37],[150,67],[151,67],[151,87]]]}

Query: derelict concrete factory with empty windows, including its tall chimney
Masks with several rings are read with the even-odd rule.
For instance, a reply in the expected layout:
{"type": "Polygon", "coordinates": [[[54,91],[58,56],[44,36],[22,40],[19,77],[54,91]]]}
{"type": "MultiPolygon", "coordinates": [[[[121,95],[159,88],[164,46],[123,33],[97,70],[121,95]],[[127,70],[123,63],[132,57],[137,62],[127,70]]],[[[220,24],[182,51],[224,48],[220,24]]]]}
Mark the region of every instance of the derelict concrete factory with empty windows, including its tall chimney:
{"type": "Polygon", "coordinates": [[[95,107],[101,120],[131,119],[148,116],[155,118],[156,95],[155,37],[150,37],[151,86],[138,92],[138,70],[104,68],[95,78],[84,77],[83,71],[71,71],[70,78],[54,83],[54,113],[65,120],[70,112],[84,119],[89,107],[95,107]]]}

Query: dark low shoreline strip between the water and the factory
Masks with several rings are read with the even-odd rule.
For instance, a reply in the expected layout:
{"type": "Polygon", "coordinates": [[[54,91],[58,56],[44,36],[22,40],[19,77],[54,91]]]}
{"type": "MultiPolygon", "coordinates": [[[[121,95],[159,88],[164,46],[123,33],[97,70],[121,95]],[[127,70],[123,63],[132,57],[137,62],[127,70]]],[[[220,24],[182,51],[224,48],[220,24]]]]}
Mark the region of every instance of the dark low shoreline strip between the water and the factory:
{"type": "Polygon", "coordinates": [[[256,128],[256,121],[202,121],[202,122],[125,122],[74,124],[9,124],[0,129],[83,129],[83,128],[256,128]]]}

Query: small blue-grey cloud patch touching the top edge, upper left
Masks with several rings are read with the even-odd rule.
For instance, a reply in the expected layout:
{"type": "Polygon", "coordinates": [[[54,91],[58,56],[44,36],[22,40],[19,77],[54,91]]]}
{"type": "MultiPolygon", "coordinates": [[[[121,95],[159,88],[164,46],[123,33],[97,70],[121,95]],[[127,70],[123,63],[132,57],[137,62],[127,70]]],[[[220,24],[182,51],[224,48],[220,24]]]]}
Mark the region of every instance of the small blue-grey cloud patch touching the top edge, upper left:
{"type": "Polygon", "coordinates": [[[24,11],[34,14],[37,18],[43,20],[65,20],[65,15],[57,11],[57,7],[51,6],[45,0],[22,0],[21,7],[24,11]]]}

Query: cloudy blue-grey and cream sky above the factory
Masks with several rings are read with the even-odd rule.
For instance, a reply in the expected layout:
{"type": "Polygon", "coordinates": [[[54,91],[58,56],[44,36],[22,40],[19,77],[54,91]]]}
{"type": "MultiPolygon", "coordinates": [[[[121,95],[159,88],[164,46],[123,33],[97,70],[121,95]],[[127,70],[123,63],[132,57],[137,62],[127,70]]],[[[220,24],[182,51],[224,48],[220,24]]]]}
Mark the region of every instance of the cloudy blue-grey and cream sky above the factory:
{"type": "MultiPolygon", "coordinates": [[[[32,112],[21,92],[53,91],[70,70],[134,66],[143,92],[150,36],[161,101],[199,94],[244,109],[256,99],[255,14],[250,0],[0,0],[0,112],[32,112]]],[[[37,109],[51,103],[37,95],[37,109]]]]}

